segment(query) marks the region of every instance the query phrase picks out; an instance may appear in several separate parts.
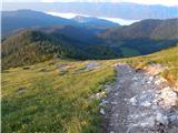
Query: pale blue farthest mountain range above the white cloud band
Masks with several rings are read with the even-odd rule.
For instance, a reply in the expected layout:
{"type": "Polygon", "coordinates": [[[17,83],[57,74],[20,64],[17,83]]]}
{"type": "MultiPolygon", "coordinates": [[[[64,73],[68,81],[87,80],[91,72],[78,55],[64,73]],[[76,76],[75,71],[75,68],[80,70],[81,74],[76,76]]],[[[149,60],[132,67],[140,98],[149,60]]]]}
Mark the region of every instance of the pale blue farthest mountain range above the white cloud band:
{"type": "Polygon", "coordinates": [[[127,2],[13,2],[2,7],[3,10],[32,9],[43,12],[72,12],[103,18],[127,20],[178,18],[178,7],[148,6],[127,2]]]}

